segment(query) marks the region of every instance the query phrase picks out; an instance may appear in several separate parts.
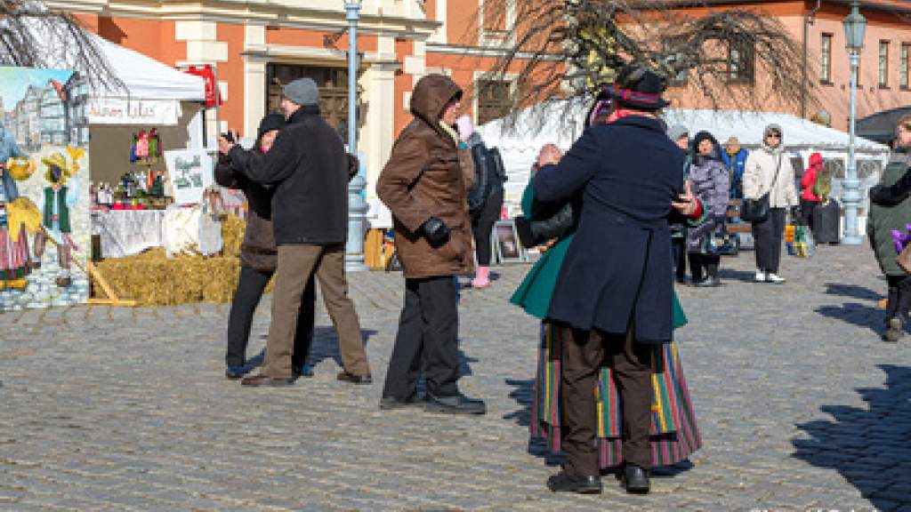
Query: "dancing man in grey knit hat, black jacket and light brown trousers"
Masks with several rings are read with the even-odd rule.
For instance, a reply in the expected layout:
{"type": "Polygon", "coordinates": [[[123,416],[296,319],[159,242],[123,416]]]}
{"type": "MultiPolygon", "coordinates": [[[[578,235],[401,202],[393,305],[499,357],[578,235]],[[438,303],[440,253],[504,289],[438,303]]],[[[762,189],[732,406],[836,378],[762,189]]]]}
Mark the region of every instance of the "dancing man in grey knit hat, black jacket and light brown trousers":
{"type": "Polygon", "coordinates": [[[244,385],[292,384],[292,351],[301,296],[315,272],[326,310],[338,333],[344,370],[340,381],[370,384],[370,365],[344,275],[348,227],[348,157],[342,139],[320,117],[319,89],[311,78],[284,87],[287,124],[262,159],[244,165],[243,149],[225,138],[219,149],[243,174],[272,187],[272,224],[278,245],[278,279],[262,373],[244,385]]]}

